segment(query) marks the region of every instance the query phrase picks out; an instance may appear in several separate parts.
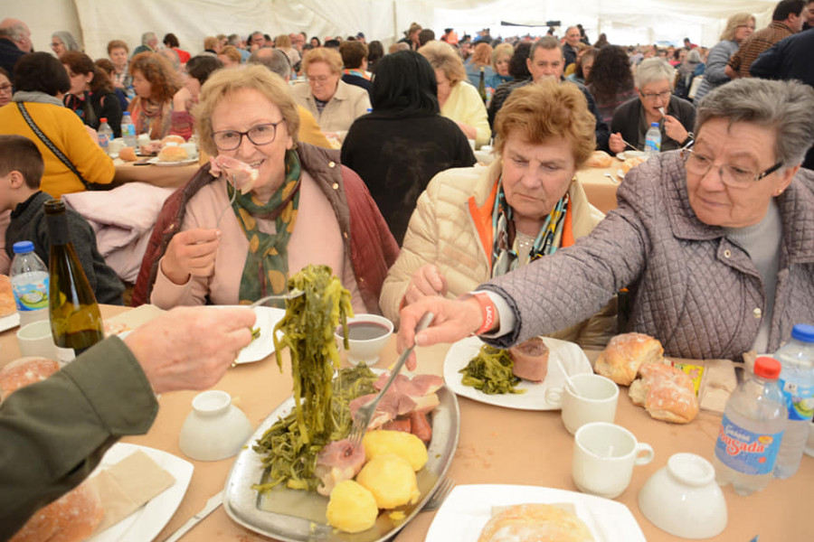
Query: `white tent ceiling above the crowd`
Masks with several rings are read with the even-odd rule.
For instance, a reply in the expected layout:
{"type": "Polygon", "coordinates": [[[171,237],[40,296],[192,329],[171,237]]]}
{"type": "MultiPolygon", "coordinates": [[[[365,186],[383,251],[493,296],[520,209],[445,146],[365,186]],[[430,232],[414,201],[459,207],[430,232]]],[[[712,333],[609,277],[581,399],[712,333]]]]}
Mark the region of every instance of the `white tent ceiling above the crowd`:
{"type": "MultiPolygon", "coordinates": [[[[731,14],[747,11],[768,21],[774,0],[3,0],[0,18],[15,17],[31,27],[34,47],[50,51],[51,33],[67,30],[91,57],[105,56],[106,44],[123,39],[131,49],[141,33],[175,33],[182,48],[203,49],[217,33],[270,35],[305,31],[309,36],[349,35],[393,42],[416,21],[441,33],[444,27],[490,27],[493,35],[526,33],[499,28],[501,21],[542,26],[561,21],[582,23],[592,39],[608,34],[611,42],[680,41],[711,46],[731,14]],[[501,31],[502,32],[497,32],[501,31]]],[[[563,29],[564,30],[564,29],[563,29]]],[[[562,32],[562,31],[561,31],[562,32]]],[[[544,28],[532,30],[544,33],[544,28]]]]}

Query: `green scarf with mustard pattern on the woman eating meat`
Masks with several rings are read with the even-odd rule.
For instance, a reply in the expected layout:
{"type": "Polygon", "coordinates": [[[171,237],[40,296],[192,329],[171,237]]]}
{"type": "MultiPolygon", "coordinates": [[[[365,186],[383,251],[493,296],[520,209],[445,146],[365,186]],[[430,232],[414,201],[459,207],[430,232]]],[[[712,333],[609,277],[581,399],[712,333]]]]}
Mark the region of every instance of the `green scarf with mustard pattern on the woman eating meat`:
{"type": "MultiPolygon", "coordinates": [[[[243,265],[240,304],[251,304],[264,295],[283,294],[289,278],[289,238],[294,231],[299,207],[301,172],[295,151],[286,152],[286,180],[266,204],[256,201],[251,192],[238,193],[232,209],[249,239],[249,251],[243,265]],[[263,233],[257,219],[274,220],[276,234],[263,233]]],[[[234,188],[226,183],[230,199],[234,188]]],[[[280,304],[284,306],[284,302],[280,304]]]]}

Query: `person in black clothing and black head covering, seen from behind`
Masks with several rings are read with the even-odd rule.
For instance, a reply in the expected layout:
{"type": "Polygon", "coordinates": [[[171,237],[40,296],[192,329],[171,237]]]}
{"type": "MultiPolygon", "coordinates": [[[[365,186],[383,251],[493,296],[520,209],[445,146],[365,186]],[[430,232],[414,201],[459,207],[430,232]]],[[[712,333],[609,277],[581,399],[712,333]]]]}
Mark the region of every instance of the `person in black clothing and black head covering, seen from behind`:
{"type": "Polygon", "coordinates": [[[435,73],[414,51],[388,54],[373,83],[373,113],[355,120],[342,144],[342,164],[367,184],[401,244],[419,194],[436,174],[475,164],[467,138],[441,117],[435,73]]]}

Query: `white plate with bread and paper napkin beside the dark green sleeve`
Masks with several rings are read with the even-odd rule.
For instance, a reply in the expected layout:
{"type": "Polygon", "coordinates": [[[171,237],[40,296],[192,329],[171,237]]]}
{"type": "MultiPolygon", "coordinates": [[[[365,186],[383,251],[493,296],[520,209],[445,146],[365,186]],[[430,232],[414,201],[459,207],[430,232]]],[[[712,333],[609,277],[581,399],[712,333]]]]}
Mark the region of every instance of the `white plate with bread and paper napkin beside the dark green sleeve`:
{"type": "MultiPolygon", "coordinates": [[[[105,456],[102,457],[99,467],[93,474],[102,468],[110,467],[130,454],[141,450],[150,456],[159,467],[169,472],[175,478],[175,484],[159,493],[146,505],[137,509],[127,518],[116,525],[105,529],[88,542],[150,542],[166,526],[167,521],[173,517],[175,510],[184,500],[186,488],[192,478],[194,466],[192,463],[155,448],[139,446],[137,444],[113,444],[105,456]]],[[[93,475],[91,474],[91,476],[93,475]]]]}

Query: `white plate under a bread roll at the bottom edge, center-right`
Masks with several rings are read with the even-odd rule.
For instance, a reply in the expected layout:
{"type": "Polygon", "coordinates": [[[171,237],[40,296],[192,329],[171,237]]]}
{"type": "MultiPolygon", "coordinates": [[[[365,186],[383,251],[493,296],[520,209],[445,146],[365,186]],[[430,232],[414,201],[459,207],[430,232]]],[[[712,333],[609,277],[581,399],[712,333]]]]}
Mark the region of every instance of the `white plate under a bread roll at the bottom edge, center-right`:
{"type": "Polygon", "coordinates": [[[444,500],[425,542],[469,542],[492,517],[493,506],[571,503],[591,529],[595,542],[645,542],[644,533],[624,504],[576,491],[519,485],[459,485],[444,500]]]}

